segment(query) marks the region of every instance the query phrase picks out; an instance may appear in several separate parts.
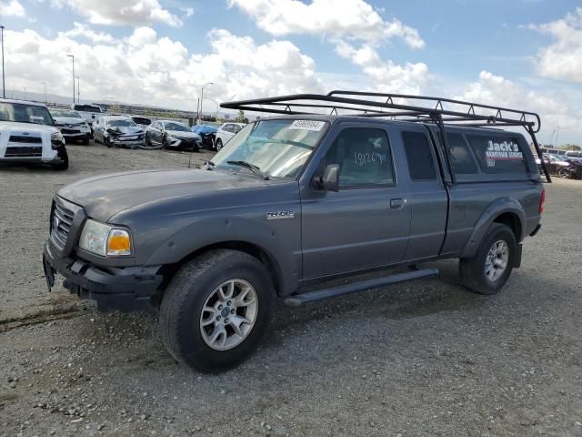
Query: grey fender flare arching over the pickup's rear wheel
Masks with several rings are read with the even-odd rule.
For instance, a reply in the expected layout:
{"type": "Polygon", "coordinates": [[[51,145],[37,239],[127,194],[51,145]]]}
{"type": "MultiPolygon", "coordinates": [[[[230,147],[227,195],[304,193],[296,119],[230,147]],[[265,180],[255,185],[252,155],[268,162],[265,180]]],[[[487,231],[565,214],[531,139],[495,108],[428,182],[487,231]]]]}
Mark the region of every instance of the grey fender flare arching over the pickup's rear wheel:
{"type": "Polygon", "coordinates": [[[516,198],[497,198],[487,206],[486,210],[477,220],[473,233],[467,240],[460,258],[474,257],[491,223],[501,214],[505,213],[514,214],[519,219],[521,232],[520,235],[516,235],[516,239],[518,243],[521,242],[524,239],[524,232],[526,231],[526,212],[524,208],[516,198]]]}

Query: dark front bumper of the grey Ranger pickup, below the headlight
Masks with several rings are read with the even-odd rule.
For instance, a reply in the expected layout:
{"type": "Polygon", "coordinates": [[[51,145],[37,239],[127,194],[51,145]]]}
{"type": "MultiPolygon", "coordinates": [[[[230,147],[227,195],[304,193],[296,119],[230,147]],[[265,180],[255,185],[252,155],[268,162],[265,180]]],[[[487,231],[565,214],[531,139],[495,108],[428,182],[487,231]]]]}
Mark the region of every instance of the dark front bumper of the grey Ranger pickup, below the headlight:
{"type": "Polygon", "coordinates": [[[100,311],[146,310],[162,275],[160,266],[101,269],[84,259],[59,257],[50,241],[45,242],[43,267],[49,290],[55,273],[65,278],[64,286],[81,299],[95,300],[100,311]]]}

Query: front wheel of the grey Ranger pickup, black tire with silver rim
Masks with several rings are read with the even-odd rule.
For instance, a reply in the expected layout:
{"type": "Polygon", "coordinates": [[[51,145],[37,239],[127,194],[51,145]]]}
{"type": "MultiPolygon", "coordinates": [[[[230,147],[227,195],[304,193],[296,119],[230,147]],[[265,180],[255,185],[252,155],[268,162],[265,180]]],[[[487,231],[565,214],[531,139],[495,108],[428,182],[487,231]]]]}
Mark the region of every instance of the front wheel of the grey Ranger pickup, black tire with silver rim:
{"type": "Polygon", "coordinates": [[[256,350],[274,306],[273,282],[258,259],[213,250],[188,262],[170,282],[160,308],[162,340],[191,369],[226,371],[256,350]]]}

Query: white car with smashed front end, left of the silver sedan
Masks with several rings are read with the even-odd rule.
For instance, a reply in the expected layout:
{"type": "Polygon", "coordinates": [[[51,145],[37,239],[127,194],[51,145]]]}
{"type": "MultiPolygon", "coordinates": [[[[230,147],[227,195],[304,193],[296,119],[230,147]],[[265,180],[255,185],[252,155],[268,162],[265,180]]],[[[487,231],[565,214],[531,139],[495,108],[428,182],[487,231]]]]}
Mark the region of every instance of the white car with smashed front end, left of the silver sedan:
{"type": "Polygon", "coordinates": [[[142,147],[144,129],[129,117],[101,117],[95,122],[95,141],[106,147],[142,147]]]}

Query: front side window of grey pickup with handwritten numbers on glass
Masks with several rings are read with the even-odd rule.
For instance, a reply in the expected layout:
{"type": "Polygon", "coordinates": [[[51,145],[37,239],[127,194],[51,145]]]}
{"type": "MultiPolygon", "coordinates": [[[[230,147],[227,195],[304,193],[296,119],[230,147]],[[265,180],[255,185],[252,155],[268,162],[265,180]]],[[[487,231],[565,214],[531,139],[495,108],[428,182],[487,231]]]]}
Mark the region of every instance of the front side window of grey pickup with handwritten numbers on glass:
{"type": "Polygon", "coordinates": [[[340,188],[385,186],[395,182],[390,144],[383,129],[344,129],[327,151],[324,163],[339,164],[340,188]]]}

